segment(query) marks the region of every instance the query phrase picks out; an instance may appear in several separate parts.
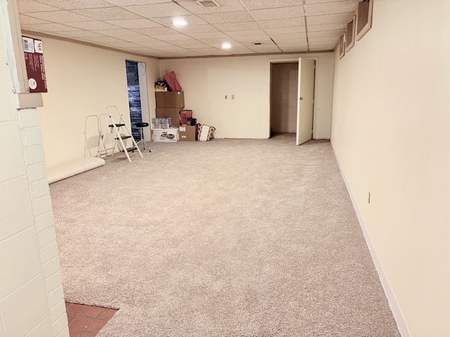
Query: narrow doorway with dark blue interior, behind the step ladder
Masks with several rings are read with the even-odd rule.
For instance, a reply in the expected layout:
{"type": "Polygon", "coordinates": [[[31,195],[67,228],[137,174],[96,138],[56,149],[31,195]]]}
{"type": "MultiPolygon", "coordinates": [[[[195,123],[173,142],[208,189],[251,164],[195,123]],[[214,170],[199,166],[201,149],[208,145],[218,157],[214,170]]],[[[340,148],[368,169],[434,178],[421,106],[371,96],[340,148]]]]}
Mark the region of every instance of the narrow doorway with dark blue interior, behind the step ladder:
{"type": "MultiPolygon", "coordinates": [[[[146,80],[146,63],[125,61],[127,67],[127,88],[129,114],[131,120],[131,135],[136,141],[141,140],[141,129],[136,123],[148,123],[150,114],[148,110],[148,91],[146,80]]],[[[143,128],[144,140],[150,139],[149,128],[143,128]]]]}

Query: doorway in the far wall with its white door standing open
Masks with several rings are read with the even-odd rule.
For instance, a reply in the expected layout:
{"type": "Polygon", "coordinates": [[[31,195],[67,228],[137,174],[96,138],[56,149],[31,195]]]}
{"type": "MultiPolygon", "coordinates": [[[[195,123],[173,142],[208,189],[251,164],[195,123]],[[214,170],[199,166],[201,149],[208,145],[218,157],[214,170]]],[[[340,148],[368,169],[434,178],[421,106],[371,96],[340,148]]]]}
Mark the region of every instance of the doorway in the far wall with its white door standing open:
{"type": "Polygon", "coordinates": [[[313,138],[316,60],[271,62],[270,137],[290,134],[297,145],[313,138]]]}

